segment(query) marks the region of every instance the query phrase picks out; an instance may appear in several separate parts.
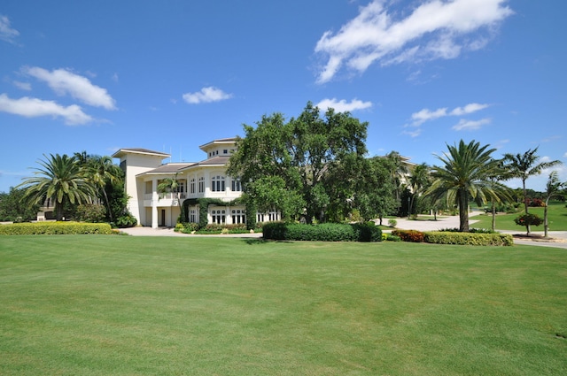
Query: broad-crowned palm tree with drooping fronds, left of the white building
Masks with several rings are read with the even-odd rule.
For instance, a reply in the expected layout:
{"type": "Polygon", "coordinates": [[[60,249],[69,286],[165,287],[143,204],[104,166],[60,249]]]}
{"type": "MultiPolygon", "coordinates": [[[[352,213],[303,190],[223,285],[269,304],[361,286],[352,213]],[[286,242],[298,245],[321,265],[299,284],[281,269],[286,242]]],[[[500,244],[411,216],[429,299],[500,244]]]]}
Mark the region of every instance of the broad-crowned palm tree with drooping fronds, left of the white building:
{"type": "Polygon", "coordinates": [[[75,157],[66,154],[50,154],[38,161],[41,168],[34,168],[35,177],[25,178],[19,188],[25,189],[24,199],[31,204],[43,204],[47,199],[55,203],[57,220],[63,219],[66,203],[87,203],[94,189],[85,179],[81,166],[75,157]]]}

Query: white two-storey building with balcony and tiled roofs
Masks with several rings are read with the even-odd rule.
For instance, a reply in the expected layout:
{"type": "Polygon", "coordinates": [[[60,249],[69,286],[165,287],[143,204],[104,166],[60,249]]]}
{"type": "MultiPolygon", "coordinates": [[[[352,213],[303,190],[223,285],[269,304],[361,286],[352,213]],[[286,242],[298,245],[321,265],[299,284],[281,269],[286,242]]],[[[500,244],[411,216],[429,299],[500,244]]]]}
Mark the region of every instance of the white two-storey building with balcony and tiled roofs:
{"type": "MultiPolygon", "coordinates": [[[[120,168],[126,173],[125,189],[129,196],[128,211],[142,226],[175,226],[186,199],[217,198],[227,204],[208,206],[208,223],[245,223],[245,207],[229,203],[242,195],[237,178],[226,174],[230,154],[236,149],[236,138],[208,142],[199,147],[207,157],[196,163],[167,163],[167,153],[146,149],[120,149],[113,157],[120,158],[120,168]],[[159,194],[159,183],[167,178],[177,180],[177,192],[159,194]]],[[[257,214],[260,222],[278,220],[279,213],[257,214]]],[[[199,205],[188,207],[190,222],[199,221],[199,205]]]]}

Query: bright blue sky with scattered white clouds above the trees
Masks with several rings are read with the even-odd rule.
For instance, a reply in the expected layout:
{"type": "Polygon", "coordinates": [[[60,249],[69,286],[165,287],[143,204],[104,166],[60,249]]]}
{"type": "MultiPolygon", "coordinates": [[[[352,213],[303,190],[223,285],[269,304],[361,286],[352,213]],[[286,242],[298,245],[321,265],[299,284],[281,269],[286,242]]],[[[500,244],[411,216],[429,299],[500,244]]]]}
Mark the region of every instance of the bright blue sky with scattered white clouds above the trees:
{"type": "Polygon", "coordinates": [[[307,101],[368,121],[370,156],[434,165],[463,139],[567,163],[566,12],[533,0],[4,1],[0,191],[49,153],[202,160],[199,145],[307,101]]]}

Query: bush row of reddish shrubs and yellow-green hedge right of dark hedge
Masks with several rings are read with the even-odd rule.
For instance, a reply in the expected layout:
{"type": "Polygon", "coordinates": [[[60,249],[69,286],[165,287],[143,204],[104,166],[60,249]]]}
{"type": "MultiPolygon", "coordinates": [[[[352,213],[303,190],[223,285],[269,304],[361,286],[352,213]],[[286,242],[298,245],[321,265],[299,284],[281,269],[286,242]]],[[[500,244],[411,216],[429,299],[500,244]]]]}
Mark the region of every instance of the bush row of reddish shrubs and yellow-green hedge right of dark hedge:
{"type": "Polygon", "coordinates": [[[514,238],[510,234],[453,233],[448,231],[394,230],[393,235],[400,236],[404,242],[429,242],[433,244],[511,246],[514,238]]]}

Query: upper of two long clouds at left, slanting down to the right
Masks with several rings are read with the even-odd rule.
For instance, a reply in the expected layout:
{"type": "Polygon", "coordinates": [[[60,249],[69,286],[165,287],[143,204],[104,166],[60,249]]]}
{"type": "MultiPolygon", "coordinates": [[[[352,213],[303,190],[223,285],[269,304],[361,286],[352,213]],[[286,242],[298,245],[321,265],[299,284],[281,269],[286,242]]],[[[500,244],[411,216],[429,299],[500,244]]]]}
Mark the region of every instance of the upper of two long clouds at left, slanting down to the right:
{"type": "Polygon", "coordinates": [[[34,66],[23,69],[38,80],[45,81],[58,96],[70,95],[84,104],[103,107],[106,110],[116,110],[115,101],[105,88],[93,85],[88,78],[67,71],[56,69],[48,71],[34,66]]]}

